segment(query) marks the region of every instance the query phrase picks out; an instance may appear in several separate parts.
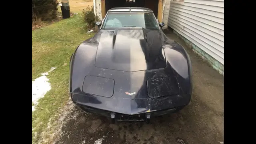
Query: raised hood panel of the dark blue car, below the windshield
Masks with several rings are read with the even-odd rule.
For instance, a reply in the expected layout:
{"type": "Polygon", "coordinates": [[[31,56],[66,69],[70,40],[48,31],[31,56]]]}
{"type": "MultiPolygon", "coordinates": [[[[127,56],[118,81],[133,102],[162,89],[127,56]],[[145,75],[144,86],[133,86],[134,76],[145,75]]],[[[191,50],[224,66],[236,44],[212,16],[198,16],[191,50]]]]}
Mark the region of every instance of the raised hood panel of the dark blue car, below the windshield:
{"type": "Polygon", "coordinates": [[[161,30],[117,28],[102,30],[95,66],[134,72],[166,67],[161,30]]]}

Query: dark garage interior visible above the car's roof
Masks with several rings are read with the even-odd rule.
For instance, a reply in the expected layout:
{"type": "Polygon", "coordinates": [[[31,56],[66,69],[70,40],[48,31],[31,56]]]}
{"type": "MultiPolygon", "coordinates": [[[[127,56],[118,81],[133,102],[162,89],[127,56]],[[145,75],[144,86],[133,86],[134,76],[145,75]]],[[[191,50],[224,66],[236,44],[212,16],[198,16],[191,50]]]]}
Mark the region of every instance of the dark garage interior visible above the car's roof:
{"type": "Polygon", "coordinates": [[[153,10],[154,15],[158,16],[158,0],[105,0],[105,2],[106,13],[110,8],[115,7],[145,7],[153,10]]]}

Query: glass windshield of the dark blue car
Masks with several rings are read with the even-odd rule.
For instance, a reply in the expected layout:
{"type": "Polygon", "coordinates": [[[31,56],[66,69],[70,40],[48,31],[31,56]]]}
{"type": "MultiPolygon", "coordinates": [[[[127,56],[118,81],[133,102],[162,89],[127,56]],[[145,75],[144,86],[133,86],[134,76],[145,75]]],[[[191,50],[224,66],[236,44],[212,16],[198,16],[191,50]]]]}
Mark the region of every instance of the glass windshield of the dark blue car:
{"type": "Polygon", "coordinates": [[[102,29],[120,27],[142,27],[159,29],[153,13],[138,12],[115,12],[108,13],[102,29]]]}

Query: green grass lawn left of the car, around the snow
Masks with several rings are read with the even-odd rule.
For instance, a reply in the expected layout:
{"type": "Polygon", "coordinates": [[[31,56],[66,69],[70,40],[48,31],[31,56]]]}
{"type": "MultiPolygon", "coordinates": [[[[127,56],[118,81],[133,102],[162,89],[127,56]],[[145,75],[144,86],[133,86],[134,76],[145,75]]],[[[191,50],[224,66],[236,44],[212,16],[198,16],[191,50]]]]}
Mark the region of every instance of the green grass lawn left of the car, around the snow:
{"type": "Polygon", "coordinates": [[[80,14],[61,20],[32,32],[32,78],[38,78],[51,67],[56,69],[47,76],[52,89],[38,100],[32,112],[32,143],[40,139],[48,120],[58,118],[58,112],[66,104],[69,79],[69,60],[77,46],[93,36],[80,21],[80,14]]]}

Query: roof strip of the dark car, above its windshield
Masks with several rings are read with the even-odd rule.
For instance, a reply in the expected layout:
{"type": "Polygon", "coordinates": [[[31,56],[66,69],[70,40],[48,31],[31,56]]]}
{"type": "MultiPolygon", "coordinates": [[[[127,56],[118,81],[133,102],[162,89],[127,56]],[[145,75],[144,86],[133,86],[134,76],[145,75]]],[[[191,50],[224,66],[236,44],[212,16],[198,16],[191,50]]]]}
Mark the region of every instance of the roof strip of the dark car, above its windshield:
{"type": "Polygon", "coordinates": [[[153,12],[153,10],[142,7],[117,7],[109,9],[108,12],[153,12]]]}

